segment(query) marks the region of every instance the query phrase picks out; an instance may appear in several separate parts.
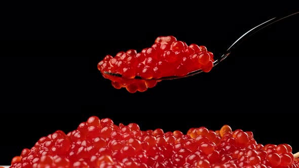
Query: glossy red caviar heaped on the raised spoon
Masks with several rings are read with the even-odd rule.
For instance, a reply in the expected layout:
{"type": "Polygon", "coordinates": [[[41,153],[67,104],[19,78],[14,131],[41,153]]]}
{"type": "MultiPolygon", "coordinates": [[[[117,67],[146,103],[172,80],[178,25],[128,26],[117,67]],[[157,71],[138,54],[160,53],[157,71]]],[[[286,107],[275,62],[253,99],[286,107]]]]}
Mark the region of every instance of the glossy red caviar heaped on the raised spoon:
{"type": "Polygon", "coordinates": [[[152,47],[119,52],[115,57],[107,55],[98,63],[98,69],[103,77],[112,82],[116,89],[126,88],[130,93],[144,92],[147,88],[156,86],[159,79],[165,76],[185,76],[201,69],[209,72],[213,67],[213,53],[205,46],[187,45],[174,36],[159,36],[152,47]],[[103,72],[119,74],[122,77],[111,76],[103,72]],[[135,80],[138,76],[143,80],[135,80]]]}

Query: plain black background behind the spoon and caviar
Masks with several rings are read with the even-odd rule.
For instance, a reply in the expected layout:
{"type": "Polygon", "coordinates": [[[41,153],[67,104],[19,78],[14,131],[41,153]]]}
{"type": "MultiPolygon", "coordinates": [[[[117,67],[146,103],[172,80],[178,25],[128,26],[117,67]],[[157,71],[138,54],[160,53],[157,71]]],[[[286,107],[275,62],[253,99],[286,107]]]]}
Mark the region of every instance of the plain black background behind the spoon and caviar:
{"type": "Polygon", "coordinates": [[[254,26],[296,12],[293,4],[26,2],[4,7],[0,165],[10,164],[43,136],[77,129],[92,115],[165,132],[229,124],[252,131],[258,143],[288,143],[299,151],[299,16],[254,34],[209,73],[161,81],[143,93],[116,90],[97,70],[105,55],[140,52],[160,35],[221,55],[254,26]]]}

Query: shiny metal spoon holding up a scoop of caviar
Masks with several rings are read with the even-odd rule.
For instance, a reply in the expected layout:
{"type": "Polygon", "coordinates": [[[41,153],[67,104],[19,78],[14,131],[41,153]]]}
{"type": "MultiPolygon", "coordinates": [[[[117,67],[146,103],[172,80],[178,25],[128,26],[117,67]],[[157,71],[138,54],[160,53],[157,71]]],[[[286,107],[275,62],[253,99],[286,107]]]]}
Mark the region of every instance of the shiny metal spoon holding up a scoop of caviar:
{"type": "MultiPolygon", "coordinates": [[[[286,15],[286,16],[280,16],[280,17],[275,17],[275,18],[272,18],[270,20],[267,20],[266,22],[264,23],[261,23],[255,27],[253,27],[252,29],[250,29],[249,31],[247,31],[246,33],[244,33],[241,37],[239,37],[229,48],[228,50],[221,56],[219,56],[218,58],[214,57],[213,58],[213,65],[212,67],[216,66],[218,63],[220,63],[221,61],[223,61],[224,59],[226,59],[234,49],[236,49],[236,47],[242,43],[242,41],[246,38],[248,38],[249,36],[251,36],[252,34],[258,32],[259,30],[275,23],[275,22],[278,22],[280,20],[283,20],[285,18],[288,18],[290,16],[293,16],[295,14],[298,14],[299,12],[295,12],[295,13],[292,13],[292,14],[289,14],[289,15],[286,15]]],[[[186,73],[186,75],[182,75],[182,76],[162,76],[162,77],[159,77],[159,78],[149,78],[149,79],[146,79],[146,78],[143,78],[141,76],[135,76],[134,78],[130,78],[130,79],[142,79],[142,80],[168,80],[168,79],[178,79],[178,78],[183,78],[183,77],[189,77],[189,76],[193,76],[193,75],[196,75],[196,74],[199,74],[201,72],[204,72],[203,69],[197,69],[197,70],[193,70],[189,73],[186,73]]],[[[121,77],[121,78],[126,78],[125,76],[123,76],[122,74],[120,73],[115,73],[115,72],[111,72],[111,71],[103,71],[102,72],[104,75],[108,75],[108,76],[115,76],[115,77],[121,77]]]]}

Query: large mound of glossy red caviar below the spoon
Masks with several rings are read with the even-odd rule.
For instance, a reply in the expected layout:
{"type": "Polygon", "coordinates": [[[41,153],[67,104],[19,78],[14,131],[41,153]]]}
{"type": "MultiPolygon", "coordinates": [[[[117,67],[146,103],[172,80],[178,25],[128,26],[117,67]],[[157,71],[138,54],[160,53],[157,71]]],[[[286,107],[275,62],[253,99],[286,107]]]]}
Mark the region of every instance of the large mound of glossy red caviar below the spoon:
{"type": "Polygon", "coordinates": [[[12,159],[10,168],[298,168],[288,144],[258,144],[253,133],[223,125],[186,134],[142,131],[136,123],[114,124],[91,116],[67,134],[42,137],[12,159]]]}

